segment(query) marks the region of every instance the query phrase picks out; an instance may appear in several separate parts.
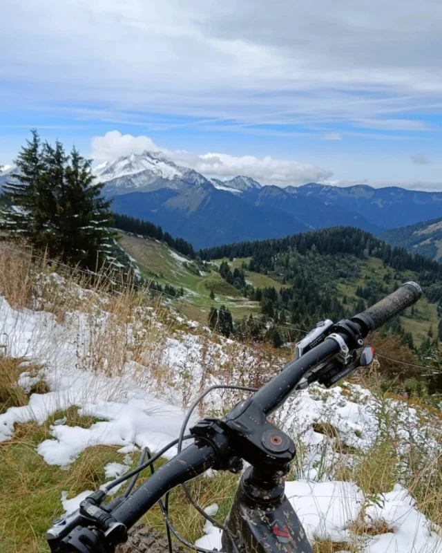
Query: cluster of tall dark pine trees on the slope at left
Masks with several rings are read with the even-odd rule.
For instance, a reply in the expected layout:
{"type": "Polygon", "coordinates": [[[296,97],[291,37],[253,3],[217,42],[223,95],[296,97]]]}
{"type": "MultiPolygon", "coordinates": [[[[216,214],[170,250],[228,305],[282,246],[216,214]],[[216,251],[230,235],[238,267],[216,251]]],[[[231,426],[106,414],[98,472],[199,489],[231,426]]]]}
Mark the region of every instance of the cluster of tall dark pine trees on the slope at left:
{"type": "Polygon", "coordinates": [[[1,227],[65,263],[95,270],[106,260],[113,233],[110,203],[94,182],[90,160],[61,142],[41,147],[37,131],[16,160],[18,175],[4,187],[1,227]]]}

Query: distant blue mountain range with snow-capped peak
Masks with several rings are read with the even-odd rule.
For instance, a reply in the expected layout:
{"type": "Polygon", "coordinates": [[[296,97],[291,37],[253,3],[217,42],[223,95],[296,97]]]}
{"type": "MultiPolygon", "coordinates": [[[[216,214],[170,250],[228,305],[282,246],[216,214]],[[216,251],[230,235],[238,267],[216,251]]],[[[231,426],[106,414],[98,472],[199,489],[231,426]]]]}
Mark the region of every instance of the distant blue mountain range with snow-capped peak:
{"type": "MultiPolygon", "coordinates": [[[[122,156],[94,172],[115,212],[162,225],[195,248],[340,225],[378,234],[442,215],[442,192],[314,182],[280,188],[248,176],[223,181],[180,167],[159,152],[122,156]]],[[[13,174],[13,169],[0,174],[0,185],[13,174]]]]}

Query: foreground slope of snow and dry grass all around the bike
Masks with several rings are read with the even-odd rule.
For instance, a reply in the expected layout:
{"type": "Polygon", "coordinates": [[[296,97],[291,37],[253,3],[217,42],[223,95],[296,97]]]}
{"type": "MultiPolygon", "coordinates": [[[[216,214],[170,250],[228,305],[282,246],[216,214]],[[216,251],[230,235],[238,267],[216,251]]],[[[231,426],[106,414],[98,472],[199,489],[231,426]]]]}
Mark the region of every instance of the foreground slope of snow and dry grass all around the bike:
{"type": "MultiPolygon", "coordinates": [[[[0,269],[1,553],[48,552],[55,518],[128,476],[144,448],[166,449],[202,391],[218,385],[190,425],[249,397],[225,385],[260,388],[285,364],[281,352],[225,339],[144,290],[91,289],[75,270],[58,274],[13,247],[0,249],[0,269]]],[[[285,494],[317,553],[440,553],[441,409],[385,393],[383,359],[378,368],[298,390],[273,413],[296,445],[285,494]]],[[[238,475],[221,470],[189,482],[221,524],[237,487],[238,475]]],[[[180,487],[169,512],[187,541],[221,550],[220,530],[180,487]]],[[[157,507],[142,523],[164,532],[157,507]]]]}

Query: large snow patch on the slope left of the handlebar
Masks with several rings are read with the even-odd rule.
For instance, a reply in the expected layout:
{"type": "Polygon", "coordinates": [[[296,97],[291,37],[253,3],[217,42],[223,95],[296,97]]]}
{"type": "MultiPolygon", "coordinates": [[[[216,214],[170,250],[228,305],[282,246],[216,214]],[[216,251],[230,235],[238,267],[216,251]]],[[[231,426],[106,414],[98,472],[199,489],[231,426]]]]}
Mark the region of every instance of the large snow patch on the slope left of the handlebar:
{"type": "MultiPolygon", "coordinates": [[[[0,320],[1,345],[6,354],[32,357],[43,364],[40,375],[50,388],[48,393],[32,394],[28,405],[12,407],[0,415],[0,441],[13,435],[17,422],[36,420],[41,424],[55,411],[74,405],[80,406],[80,415],[101,421],[88,429],[53,425],[54,439],[45,440],[38,447],[51,465],[69,465],[81,451],[95,444],[148,446],[157,450],[178,435],[184,411],[142,388],[137,382],[139,368],[135,363],[126,363],[126,372],[115,377],[78,367],[78,326],[67,330],[50,313],[13,310],[6,299],[0,300],[0,320]]],[[[171,352],[177,361],[175,344],[171,352]]],[[[35,379],[25,372],[19,384],[29,390],[35,379]]],[[[170,455],[175,451],[171,449],[170,455]]]]}

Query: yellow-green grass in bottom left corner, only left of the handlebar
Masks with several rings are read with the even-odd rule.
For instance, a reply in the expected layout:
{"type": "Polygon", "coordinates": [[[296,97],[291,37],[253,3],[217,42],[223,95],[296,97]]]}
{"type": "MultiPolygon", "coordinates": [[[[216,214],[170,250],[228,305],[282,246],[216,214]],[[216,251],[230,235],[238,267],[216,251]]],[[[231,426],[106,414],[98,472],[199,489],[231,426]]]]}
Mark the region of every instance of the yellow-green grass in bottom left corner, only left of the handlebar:
{"type": "Polygon", "coordinates": [[[47,552],[44,534],[63,513],[61,492],[74,497],[95,489],[105,481],[104,465],[122,462],[117,447],[97,446],[81,453],[68,471],[47,465],[36,447],[50,438],[48,426],[17,425],[14,438],[0,445],[1,553],[47,552]]]}

